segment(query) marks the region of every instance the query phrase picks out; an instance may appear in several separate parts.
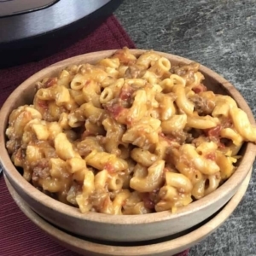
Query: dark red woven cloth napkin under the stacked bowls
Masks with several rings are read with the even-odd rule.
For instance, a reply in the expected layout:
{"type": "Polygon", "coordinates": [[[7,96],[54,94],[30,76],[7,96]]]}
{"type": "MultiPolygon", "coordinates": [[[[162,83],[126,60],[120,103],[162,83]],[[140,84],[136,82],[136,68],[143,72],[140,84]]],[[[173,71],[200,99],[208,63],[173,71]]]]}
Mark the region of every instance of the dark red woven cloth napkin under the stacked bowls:
{"type": "MultiPolygon", "coordinates": [[[[80,40],[71,47],[51,55],[42,61],[31,62],[25,65],[10,67],[0,70],[0,107],[15,87],[38,72],[57,61],[61,61],[74,55],[81,55],[103,49],[120,49],[124,46],[135,48],[135,44],[126,34],[119,21],[113,16],[102,23],[89,36],[80,40]]],[[[0,255],[60,255],[75,256],[64,247],[52,241],[42,230],[26,218],[16,206],[15,201],[9,195],[4,183],[3,175],[0,177],[0,255]]],[[[187,256],[188,251],[177,256],[187,256]]]]}

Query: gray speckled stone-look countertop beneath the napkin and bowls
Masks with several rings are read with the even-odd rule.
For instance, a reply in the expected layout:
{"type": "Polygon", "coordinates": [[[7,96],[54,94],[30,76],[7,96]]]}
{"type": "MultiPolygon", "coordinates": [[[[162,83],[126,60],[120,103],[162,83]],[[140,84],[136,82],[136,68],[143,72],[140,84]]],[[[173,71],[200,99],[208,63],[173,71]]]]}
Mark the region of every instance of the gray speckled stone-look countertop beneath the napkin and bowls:
{"type": "MultiPolygon", "coordinates": [[[[256,0],[125,0],[115,15],[137,48],[182,55],[230,80],[256,116],[256,0]]],[[[256,165],[230,218],[189,256],[256,255],[256,165]]]]}

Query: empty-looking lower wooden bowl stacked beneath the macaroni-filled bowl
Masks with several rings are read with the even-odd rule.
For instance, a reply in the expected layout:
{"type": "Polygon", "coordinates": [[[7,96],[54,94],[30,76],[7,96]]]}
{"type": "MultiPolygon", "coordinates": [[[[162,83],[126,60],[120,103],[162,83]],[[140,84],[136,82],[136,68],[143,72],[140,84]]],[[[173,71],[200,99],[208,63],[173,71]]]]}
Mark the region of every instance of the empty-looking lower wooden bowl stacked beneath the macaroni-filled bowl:
{"type": "Polygon", "coordinates": [[[18,195],[7,178],[5,178],[5,183],[7,184],[10,195],[27,218],[30,218],[34,224],[41,230],[44,230],[48,236],[60,243],[63,247],[67,247],[76,253],[90,256],[171,256],[183,252],[185,249],[202,241],[229,218],[246,193],[251,173],[249,172],[247,174],[236,195],[217,214],[214,214],[214,216],[211,216],[195,228],[184,231],[182,236],[167,236],[154,241],[154,243],[153,241],[130,242],[128,245],[120,242],[90,240],[85,237],[82,238],[68,234],[56,228],[32,211],[26,202],[20,198],[20,195],[18,195]]]}

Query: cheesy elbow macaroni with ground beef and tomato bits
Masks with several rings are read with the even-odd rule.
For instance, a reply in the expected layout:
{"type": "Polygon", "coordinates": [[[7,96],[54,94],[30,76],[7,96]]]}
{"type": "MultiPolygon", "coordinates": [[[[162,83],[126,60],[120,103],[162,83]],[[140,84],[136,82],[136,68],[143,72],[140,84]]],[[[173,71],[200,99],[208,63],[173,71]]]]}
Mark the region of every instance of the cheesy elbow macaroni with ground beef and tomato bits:
{"type": "Polygon", "coordinates": [[[144,214],[188,205],[236,170],[256,128],[197,63],[120,49],[37,84],[9,116],[6,146],[34,186],[81,212],[144,214]]]}

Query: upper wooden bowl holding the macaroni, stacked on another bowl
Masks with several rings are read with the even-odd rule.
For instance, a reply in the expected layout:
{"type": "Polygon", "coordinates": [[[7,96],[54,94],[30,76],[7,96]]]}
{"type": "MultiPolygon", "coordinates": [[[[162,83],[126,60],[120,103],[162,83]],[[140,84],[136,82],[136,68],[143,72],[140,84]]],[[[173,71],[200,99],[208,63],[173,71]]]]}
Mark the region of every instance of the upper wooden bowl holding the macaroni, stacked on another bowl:
{"type": "MultiPolygon", "coordinates": [[[[140,55],[144,51],[143,49],[131,49],[131,52],[136,55],[140,55]]],[[[20,173],[17,172],[9,158],[9,154],[5,148],[5,130],[8,125],[9,113],[20,105],[32,102],[34,84],[44,77],[56,75],[64,67],[84,62],[95,63],[104,57],[113,55],[114,52],[115,50],[106,50],[79,55],[55,63],[32,75],[32,77],[26,79],[24,83],[17,87],[4,103],[0,112],[0,161],[3,166],[3,172],[20,197],[35,212],[47,219],[50,223],[74,234],[109,241],[147,241],[188,230],[190,227],[209,218],[235,195],[250,168],[253,166],[256,151],[256,146],[253,143],[244,144],[240,153],[242,157],[236,172],[211,194],[186,207],[180,208],[176,213],[165,211],[132,216],[114,216],[96,212],[83,214],[79,212],[78,208],[55,201],[34,188],[31,183],[27,183],[20,173]]],[[[160,55],[168,58],[172,62],[172,65],[178,63],[189,64],[191,62],[188,59],[176,55],[165,53],[160,53],[160,55]]],[[[232,84],[207,67],[201,66],[200,71],[205,76],[204,84],[207,85],[209,90],[232,96],[239,107],[247,113],[250,122],[255,124],[253,113],[248,107],[247,102],[232,84]]]]}

